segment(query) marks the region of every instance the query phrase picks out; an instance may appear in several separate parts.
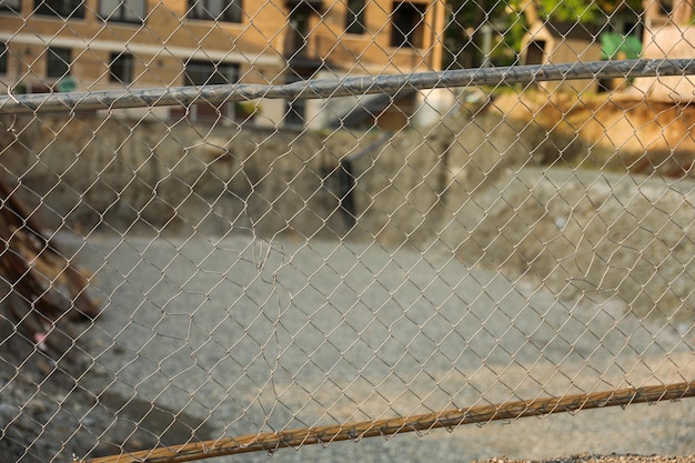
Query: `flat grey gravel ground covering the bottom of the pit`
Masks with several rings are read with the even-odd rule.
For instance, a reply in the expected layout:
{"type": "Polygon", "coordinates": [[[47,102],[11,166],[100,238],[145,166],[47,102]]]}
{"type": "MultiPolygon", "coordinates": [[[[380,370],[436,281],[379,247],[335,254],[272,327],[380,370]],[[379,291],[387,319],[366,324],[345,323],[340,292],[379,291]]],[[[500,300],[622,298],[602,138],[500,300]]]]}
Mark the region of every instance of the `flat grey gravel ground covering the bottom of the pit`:
{"type": "MultiPolygon", "coordinates": [[[[7,361],[0,369],[7,461],[69,461],[695,376],[692,340],[663,323],[614,301],[558,300],[441,250],[248,235],[61,241],[95,271],[104,313],[82,326],[82,362],[54,364],[29,342],[23,351],[12,344],[22,369],[7,361]]],[[[273,461],[585,452],[695,454],[695,401],[308,446],[273,461]]],[[[634,457],[614,457],[626,459],[634,457]]]]}

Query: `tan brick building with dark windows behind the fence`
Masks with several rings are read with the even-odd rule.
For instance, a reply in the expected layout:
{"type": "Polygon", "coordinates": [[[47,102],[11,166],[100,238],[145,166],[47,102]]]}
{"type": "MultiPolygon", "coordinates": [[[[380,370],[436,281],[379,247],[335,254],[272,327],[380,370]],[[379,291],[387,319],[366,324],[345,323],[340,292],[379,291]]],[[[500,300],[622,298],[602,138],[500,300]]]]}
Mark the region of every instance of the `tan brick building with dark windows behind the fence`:
{"type": "MultiPolygon", "coordinates": [[[[443,0],[2,0],[0,90],[278,84],[439,70],[444,8],[443,0]]],[[[333,117],[316,115],[325,107],[264,100],[252,111],[199,104],[170,115],[321,125],[333,117]]]]}

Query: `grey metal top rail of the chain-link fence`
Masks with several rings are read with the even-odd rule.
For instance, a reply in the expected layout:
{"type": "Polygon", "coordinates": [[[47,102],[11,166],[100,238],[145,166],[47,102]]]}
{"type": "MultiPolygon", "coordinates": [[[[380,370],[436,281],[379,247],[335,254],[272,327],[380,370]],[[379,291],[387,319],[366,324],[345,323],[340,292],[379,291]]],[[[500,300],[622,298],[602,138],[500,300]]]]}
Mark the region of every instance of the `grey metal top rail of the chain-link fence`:
{"type": "Polygon", "coordinates": [[[269,99],[396,93],[403,89],[498,85],[565,79],[638,78],[695,74],[695,60],[623,60],[566,64],[476,68],[411,74],[312,79],[281,85],[225,84],[152,89],[8,94],[0,97],[0,114],[100,109],[189,105],[269,99]]]}

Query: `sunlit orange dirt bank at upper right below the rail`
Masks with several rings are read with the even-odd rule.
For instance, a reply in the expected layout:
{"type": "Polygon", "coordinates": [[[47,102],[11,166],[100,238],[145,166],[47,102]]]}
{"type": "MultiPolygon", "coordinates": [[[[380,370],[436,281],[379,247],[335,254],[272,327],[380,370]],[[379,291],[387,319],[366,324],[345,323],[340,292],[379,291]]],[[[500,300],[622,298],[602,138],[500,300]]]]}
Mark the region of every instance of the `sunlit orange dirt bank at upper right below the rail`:
{"type": "Polygon", "coordinates": [[[695,161],[695,107],[610,95],[506,94],[491,111],[537,125],[551,139],[580,140],[587,148],[576,164],[681,178],[695,161]]]}

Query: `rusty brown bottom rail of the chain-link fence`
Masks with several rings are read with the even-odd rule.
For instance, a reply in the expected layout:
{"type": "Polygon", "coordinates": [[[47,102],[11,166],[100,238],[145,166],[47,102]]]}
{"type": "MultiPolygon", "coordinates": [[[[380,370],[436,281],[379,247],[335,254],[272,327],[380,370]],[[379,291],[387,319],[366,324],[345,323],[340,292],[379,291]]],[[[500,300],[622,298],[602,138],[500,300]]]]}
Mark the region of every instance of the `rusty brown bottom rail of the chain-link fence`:
{"type": "Polygon", "coordinates": [[[550,415],[604,406],[625,406],[634,403],[658,402],[692,396],[695,396],[695,381],[574,394],[562,397],[516,401],[495,405],[477,405],[470,409],[447,410],[407,417],[224,437],[216,441],[195,442],[179,446],[124,453],[115,456],[82,460],[80,463],[179,463],[236,453],[274,452],[279,449],[309,444],[355,441],[364,437],[391,436],[437,427],[450,429],[462,424],[487,423],[496,420],[514,420],[523,416],[550,415]]]}

